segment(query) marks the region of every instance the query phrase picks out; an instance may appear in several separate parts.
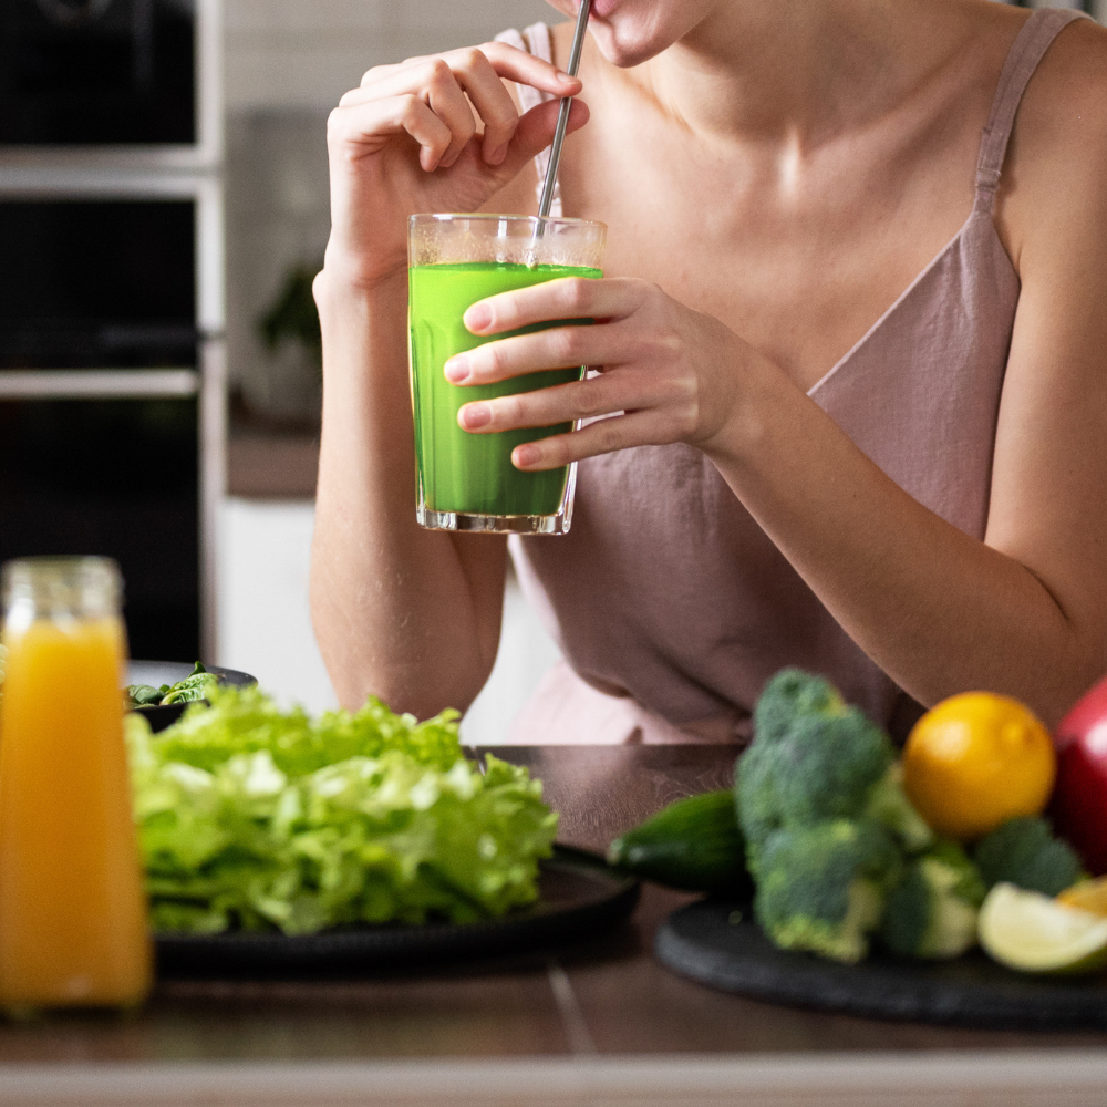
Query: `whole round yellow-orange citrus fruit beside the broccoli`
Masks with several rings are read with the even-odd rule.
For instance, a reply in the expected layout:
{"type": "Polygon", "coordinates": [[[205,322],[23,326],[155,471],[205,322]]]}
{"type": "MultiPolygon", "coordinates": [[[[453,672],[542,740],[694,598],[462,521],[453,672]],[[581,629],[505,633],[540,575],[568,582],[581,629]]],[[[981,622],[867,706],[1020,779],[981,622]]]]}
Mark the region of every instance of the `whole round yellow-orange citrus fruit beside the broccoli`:
{"type": "Polygon", "coordinates": [[[928,711],[908,735],[903,787],[941,836],[972,841],[1049,801],[1057,757],[1028,707],[965,692],[928,711]]]}

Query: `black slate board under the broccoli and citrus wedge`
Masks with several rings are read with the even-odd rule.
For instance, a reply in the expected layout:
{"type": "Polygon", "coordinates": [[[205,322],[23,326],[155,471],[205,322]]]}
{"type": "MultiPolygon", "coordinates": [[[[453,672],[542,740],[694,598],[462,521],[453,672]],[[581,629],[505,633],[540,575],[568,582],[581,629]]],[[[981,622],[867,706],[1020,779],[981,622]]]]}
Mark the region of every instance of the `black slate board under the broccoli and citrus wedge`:
{"type": "Polygon", "coordinates": [[[1001,1030],[1107,1030],[1103,977],[1028,976],[975,950],[954,961],[875,953],[844,965],[778,950],[734,903],[703,900],[658,930],[663,964],[711,987],[849,1015],[1001,1030]]]}

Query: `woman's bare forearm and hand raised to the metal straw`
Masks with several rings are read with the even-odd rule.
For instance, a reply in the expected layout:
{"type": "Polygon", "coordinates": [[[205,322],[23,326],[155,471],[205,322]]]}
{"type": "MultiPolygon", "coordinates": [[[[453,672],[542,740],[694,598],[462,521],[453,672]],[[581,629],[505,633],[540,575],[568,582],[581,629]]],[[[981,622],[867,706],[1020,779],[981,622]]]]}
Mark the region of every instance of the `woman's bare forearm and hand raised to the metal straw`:
{"type": "MultiPolygon", "coordinates": [[[[415,523],[406,231],[416,211],[472,211],[493,197],[500,210],[523,203],[513,182],[549,145],[557,103],[520,120],[501,79],[555,96],[580,89],[540,59],[489,43],[370,70],[328,125],[311,610],[348,707],[373,694],[420,717],[465,710],[496,658],[505,540],[415,523]]],[[[575,104],[570,127],[586,120],[575,104]]]]}

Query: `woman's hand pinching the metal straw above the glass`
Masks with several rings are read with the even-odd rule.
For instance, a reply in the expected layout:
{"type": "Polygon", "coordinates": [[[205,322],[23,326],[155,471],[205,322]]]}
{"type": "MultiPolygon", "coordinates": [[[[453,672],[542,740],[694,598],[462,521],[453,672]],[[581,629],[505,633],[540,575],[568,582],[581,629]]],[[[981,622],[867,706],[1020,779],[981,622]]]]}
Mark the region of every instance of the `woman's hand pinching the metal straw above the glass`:
{"type": "MultiPolygon", "coordinates": [[[[330,272],[371,288],[405,271],[408,216],[477,210],[550,144],[557,99],[520,117],[505,79],[555,97],[581,87],[549,62],[488,42],[379,65],[342,97],[327,134],[330,272]]],[[[587,120],[575,101],[569,131],[587,120]]]]}

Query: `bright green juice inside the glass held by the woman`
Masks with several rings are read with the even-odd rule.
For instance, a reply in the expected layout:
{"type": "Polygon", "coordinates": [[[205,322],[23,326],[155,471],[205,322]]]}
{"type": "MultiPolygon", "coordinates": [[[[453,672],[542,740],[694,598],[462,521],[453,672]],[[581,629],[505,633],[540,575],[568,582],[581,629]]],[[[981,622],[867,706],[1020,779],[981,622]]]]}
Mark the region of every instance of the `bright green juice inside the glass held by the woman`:
{"type": "MultiPolygon", "coordinates": [[[[565,496],[569,469],[521,473],[511,451],[525,442],[570,430],[570,423],[469,434],[457,424],[457,411],[477,400],[534,392],[580,380],[583,368],[528,373],[499,384],[463,387],[451,384],[443,365],[456,353],[490,338],[470,334],[462,322],[466,309],[497,292],[541,284],[558,277],[601,277],[599,269],[577,266],[506,265],[495,261],[416,266],[410,270],[412,405],[415,416],[415,462],[428,510],[459,515],[556,515],[565,496]]],[[[587,323],[589,320],[573,320],[587,323]]],[[[565,320],[526,327],[527,334],[565,320]]],[[[507,338],[506,334],[495,335],[507,338]]]]}

